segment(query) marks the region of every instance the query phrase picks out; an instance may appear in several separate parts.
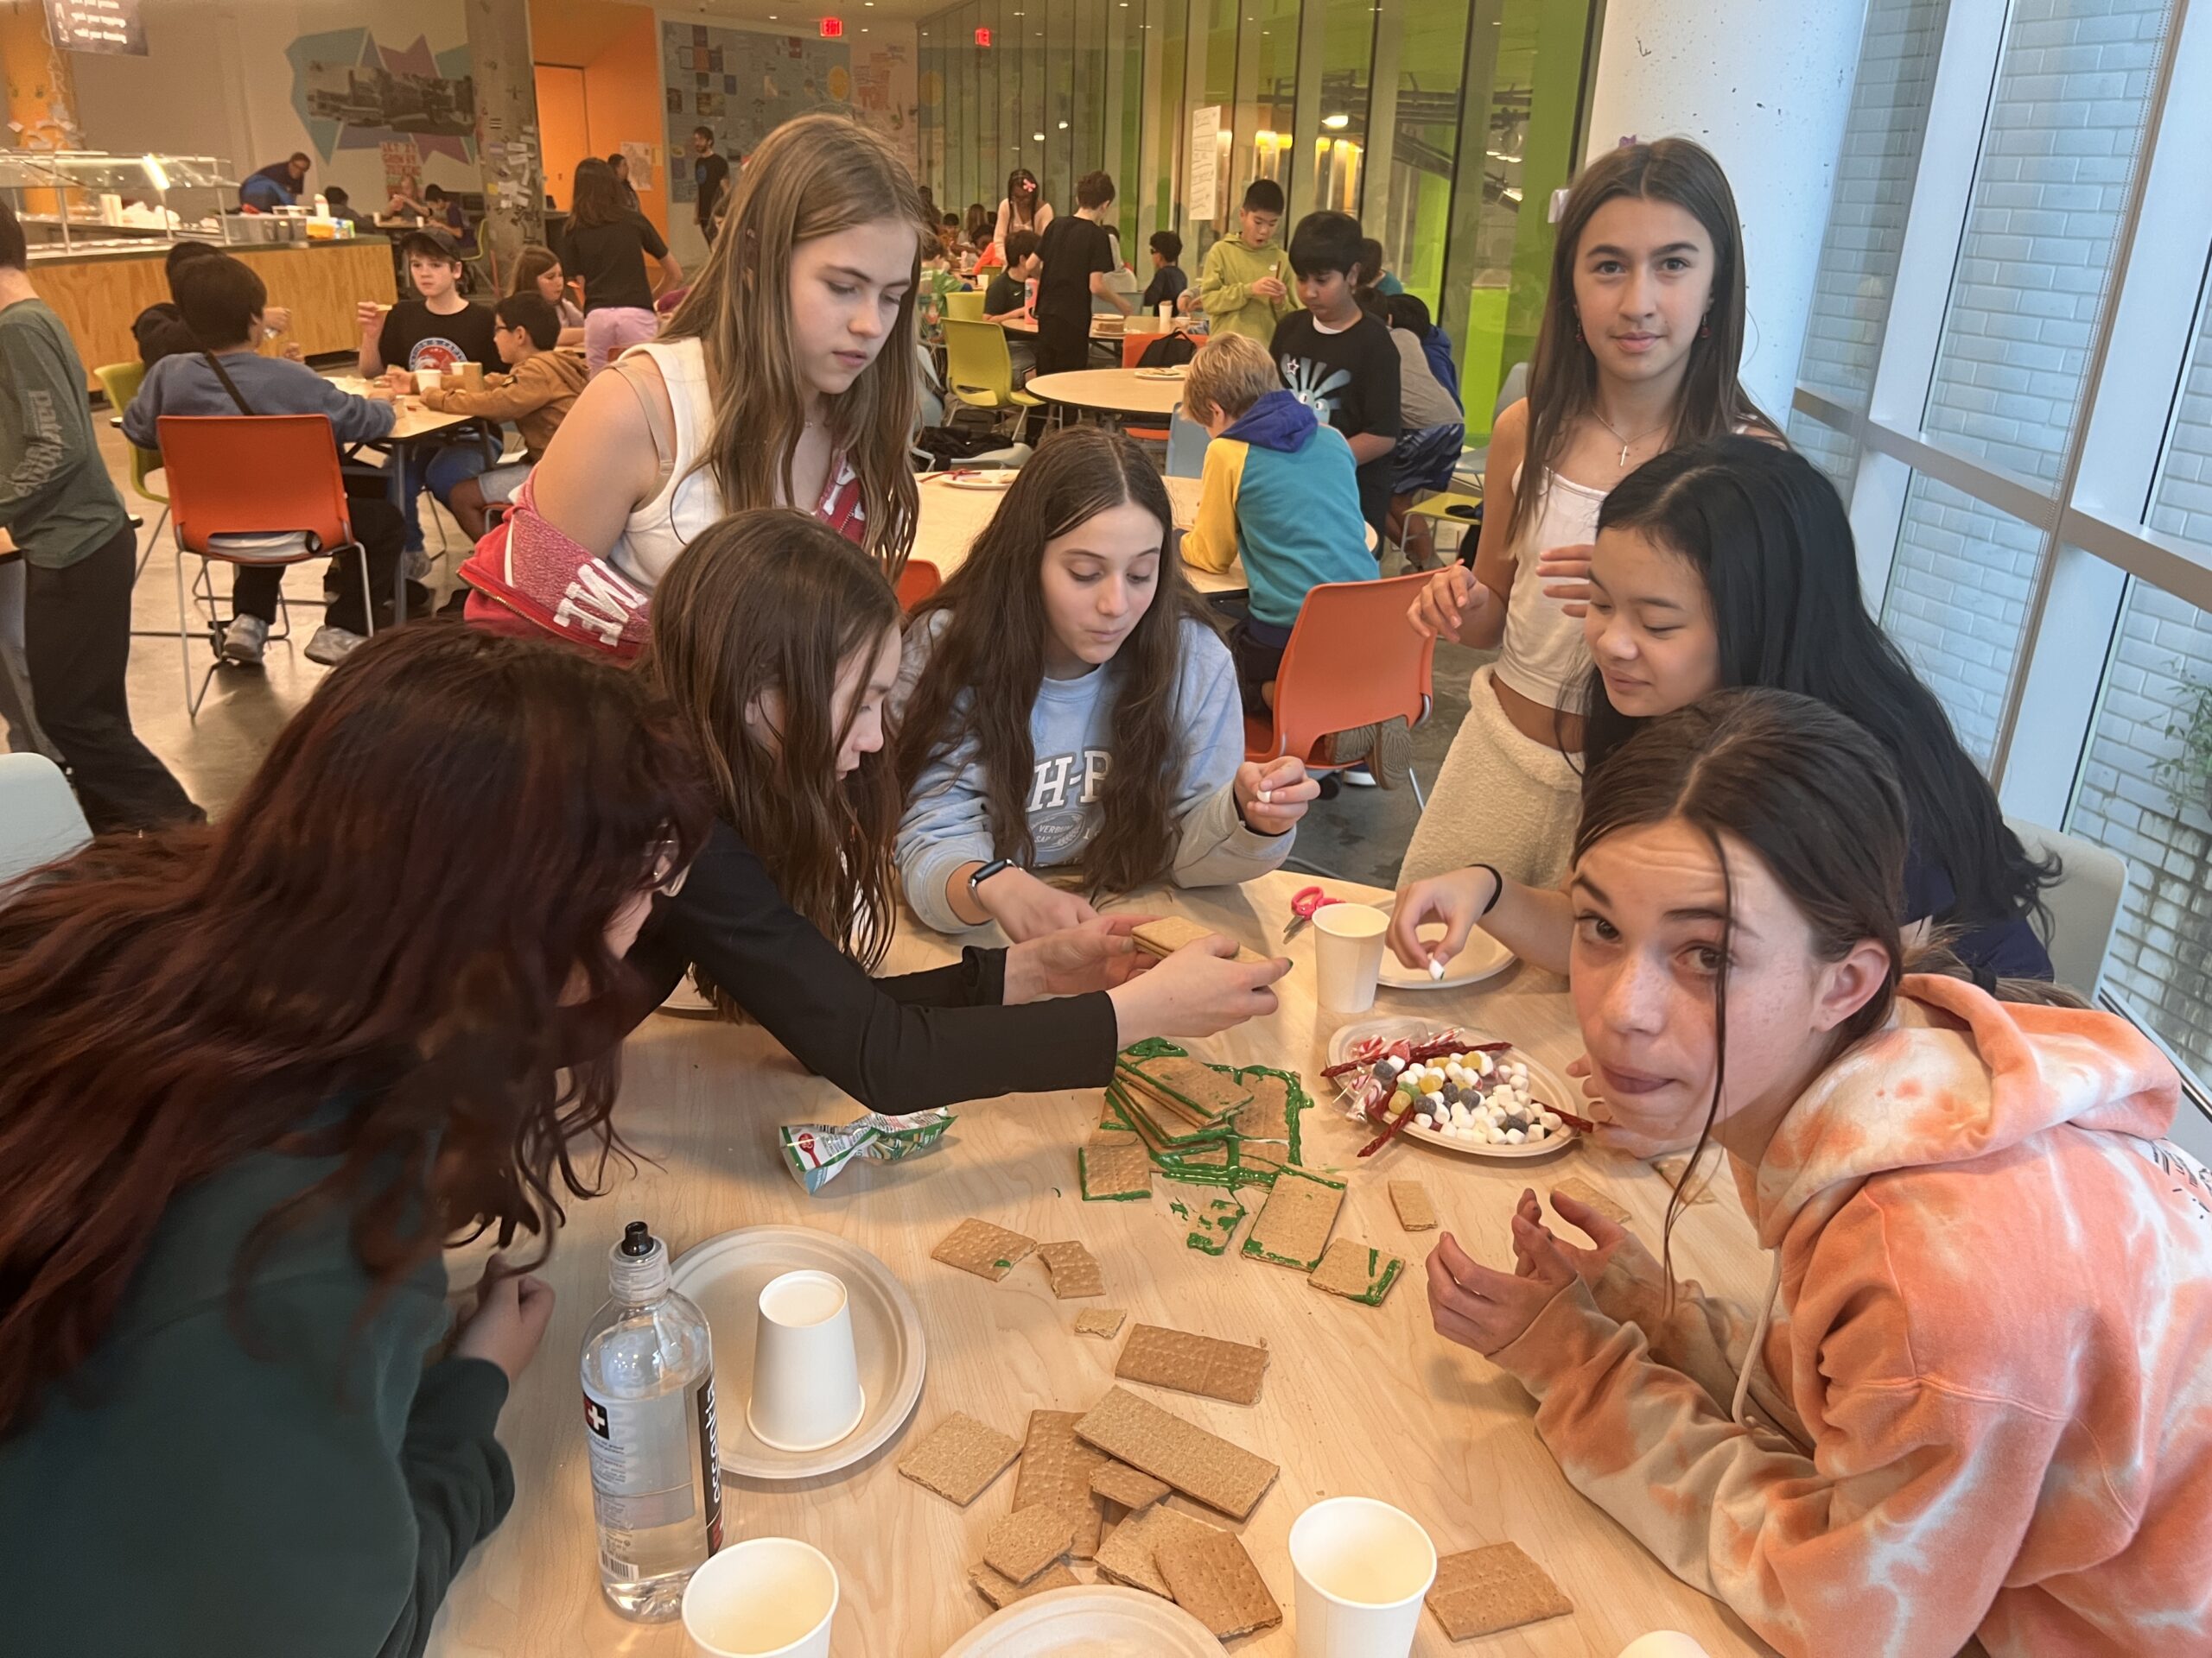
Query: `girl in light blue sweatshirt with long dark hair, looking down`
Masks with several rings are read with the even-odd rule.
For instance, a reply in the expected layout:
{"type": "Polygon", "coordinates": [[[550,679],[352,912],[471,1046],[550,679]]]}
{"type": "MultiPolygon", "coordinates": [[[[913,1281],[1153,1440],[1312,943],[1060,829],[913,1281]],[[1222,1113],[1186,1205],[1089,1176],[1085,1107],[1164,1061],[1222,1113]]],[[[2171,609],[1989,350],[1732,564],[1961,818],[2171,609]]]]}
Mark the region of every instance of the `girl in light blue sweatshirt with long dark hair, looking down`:
{"type": "Polygon", "coordinates": [[[927,926],[1020,942],[1088,920],[1084,891],[1219,886],[1290,856],[1321,789],[1243,758],[1228,646],[1168,550],[1168,491],[1128,438],[1037,447],[967,564],[907,628],[894,707],[898,873],[927,926]]]}

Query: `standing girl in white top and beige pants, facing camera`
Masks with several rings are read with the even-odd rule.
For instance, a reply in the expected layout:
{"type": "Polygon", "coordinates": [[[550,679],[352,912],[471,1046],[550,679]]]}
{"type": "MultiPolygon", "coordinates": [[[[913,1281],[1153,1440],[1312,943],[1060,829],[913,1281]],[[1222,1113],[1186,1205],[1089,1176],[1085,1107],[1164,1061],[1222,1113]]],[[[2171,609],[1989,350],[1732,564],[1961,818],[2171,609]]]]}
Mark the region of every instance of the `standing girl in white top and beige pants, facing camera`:
{"type": "Polygon", "coordinates": [[[1528,396],[1498,416],[1473,568],[1447,564],[1416,632],[1498,650],[1398,871],[1473,862],[1548,886],[1582,809],[1582,599],[1597,508],[1679,442],[1774,431],[1736,365],[1743,232],[1690,139],[1630,144],[1575,179],[1553,245],[1528,396]]]}

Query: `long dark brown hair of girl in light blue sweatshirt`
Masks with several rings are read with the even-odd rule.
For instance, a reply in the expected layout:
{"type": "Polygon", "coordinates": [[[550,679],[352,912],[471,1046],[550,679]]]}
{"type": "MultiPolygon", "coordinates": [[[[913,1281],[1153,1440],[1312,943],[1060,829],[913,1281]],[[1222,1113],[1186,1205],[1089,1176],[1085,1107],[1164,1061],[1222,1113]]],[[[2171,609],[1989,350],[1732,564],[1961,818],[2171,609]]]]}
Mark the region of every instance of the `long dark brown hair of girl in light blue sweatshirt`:
{"type": "Polygon", "coordinates": [[[1135,504],[1159,520],[1159,586],[1115,659],[1113,765],[1099,796],[1099,831],[1084,851],[1097,893],[1126,893],[1159,880],[1175,862],[1170,794],[1183,758],[1177,690],[1183,623],[1203,610],[1175,557],[1168,486],[1144,451],[1104,427],[1066,427],[1022,466],[967,564],[914,612],[929,628],[929,663],[900,714],[898,780],[911,796],[922,772],[964,745],[982,767],[991,840],[1000,856],[1029,862],[1029,787],[1037,752],[1031,710],[1044,683],[1042,564],[1046,542],[1115,506],[1135,504]],[[938,621],[942,615],[942,623],[938,621]]]}

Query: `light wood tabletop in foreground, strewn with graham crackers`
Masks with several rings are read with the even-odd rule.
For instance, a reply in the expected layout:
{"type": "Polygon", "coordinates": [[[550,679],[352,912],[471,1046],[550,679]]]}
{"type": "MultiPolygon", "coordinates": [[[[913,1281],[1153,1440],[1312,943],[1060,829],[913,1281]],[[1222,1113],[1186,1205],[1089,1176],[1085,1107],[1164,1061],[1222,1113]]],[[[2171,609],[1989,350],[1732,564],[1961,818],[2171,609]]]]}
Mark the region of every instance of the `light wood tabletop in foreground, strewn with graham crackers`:
{"type": "MultiPolygon", "coordinates": [[[[1305,882],[1276,873],[1243,889],[1155,895],[1146,909],[1186,913],[1272,948],[1290,898],[1305,882]]],[[[1363,895],[1345,882],[1329,882],[1329,891],[1363,895]]],[[[1305,1116],[1307,1161],[1338,1165],[1349,1176],[1338,1236],[1407,1258],[1405,1278],[1378,1309],[1323,1295],[1298,1273],[1241,1260],[1234,1249],[1221,1258],[1186,1249],[1188,1227],[1157,1196],[1152,1205],[1084,1203],[1075,1147],[1097,1123],[1099,1090],[964,1105],[929,1154],[852,1167],[810,1198],[779,1165],[774,1130],[843,1121],[854,1114],[852,1101],[803,1074],[754,1026],[648,1019],[624,1054],[615,1114],[641,1161],[635,1169],[611,1169],[606,1196],[568,1209],[544,1269],[560,1295],[553,1324],[500,1424],[515,1463],[515,1508],[462,1567],[429,1651],[436,1658],[686,1651],[681,1627],[626,1623],[599,1598],[577,1408],[580,1340],[606,1295],[606,1251],[624,1222],[639,1218],[677,1251],[732,1227],[834,1231],[874,1251],[920,1304],[929,1377],[914,1421],[885,1450],[858,1468],[796,1486],[723,1481],[728,1539],[799,1536],[836,1561],[843,1603],[832,1651],[838,1658],[936,1658],[989,1614],[967,1572],[982,1559],[984,1530],[1013,1503],[1013,1472],[960,1510],[902,1479],[896,1461],[953,1410],[1020,1437],[1031,1410],[1086,1410],[1104,1397],[1121,1344],[1075,1335],[1075,1313],[1086,1307],[1124,1307],[1133,1320],[1265,1340],[1274,1349],[1265,1391],[1250,1408],[1135,1388],[1283,1468],[1243,1525],[1243,1539],[1285,1623],[1234,1643],[1239,1658],[1294,1651],[1290,1523],[1321,1497],[1347,1492],[1405,1508],[1442,1552],[1511,1539],[1557,1578],[1575,1614],[1486,1640],[1484,1656],[1613,1658],[1637,1634],[1666,1627],[1697,1636],[1717,1658],[1767,1651],[1566,1483],[1537,1441],[1533,1406],[1515,1382],[1436,1335],[1422,1278],[1436,1234],[1400,1231],[1383,1183],[1420,1178],[1444,1225],[1491,1262],[1511,1260],[1511,1207],[1524,1185],[1542,1189],[1551,1178],[1582,1174],[1628,1205],[1652,1240],[1666,1185],[1641,1163],[1588,1147],[1537,1165],[1493,1165],[1391,1145],[1369,1163],[1354,1163],[1367,1134],[1325,1099],[1321,1068],[1343,1021],[1314,1010],[1312,940],[1314,931],[1303,928],[1287,948],[1294,970],[1279,986],[1279,1012],[1192,1046],[1206,1059],[1265,1061],[1305,1074],[1321,1101],[1305,1116]],[[1106,1298],[1053,1300],[1035,1260],[998,1284],[931,1260],[929,1249],[967,1216],[1040,1240],[1082,1238],[1104,1267],[1106,1298]]],[[[931,933],[902,931],[889,970],[945,962],[951,948],[931,933]]],[[[1582,1050],[1562,982],[1533,968],[1462,990],[1385,990],[1376,1012],[1464,1021],[1524,1043],[1553,1068],[1582,1050]]],[[[1677,1269],[1708,1289],[1756,1293],[1765,1269],[1750,1225],[1725,1178],[1712,1189],[1717,1200],[1688,1209],[1674,1229],[1677,1269]]],[[[456,1262],[453,1276],[471,1282],[473,1256],[456,1262]]],[[[717,1404],[723,1433],[741,1430],[743,1402],[717,1404]]],[[[1079,1576],[1091,1574],[1079,1567],[1079,1576]]],[[[1447,1658],[1455,1649],[1425,1614],[1413,1651],[1447,1658]]]]}

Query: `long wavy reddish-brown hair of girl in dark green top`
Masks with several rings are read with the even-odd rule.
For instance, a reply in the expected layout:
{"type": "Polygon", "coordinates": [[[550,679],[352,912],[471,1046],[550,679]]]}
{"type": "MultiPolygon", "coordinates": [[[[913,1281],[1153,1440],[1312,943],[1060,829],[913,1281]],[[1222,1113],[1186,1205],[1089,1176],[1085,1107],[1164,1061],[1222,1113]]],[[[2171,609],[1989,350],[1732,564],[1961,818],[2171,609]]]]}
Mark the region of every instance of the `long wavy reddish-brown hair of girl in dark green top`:
{"type": "Polygon", "coordinates": [[[465,1229],[549,1231],[555,1176],[588,1196],[619,1145],[633,975],[606,926],[708,820],[633,676],[400,628],[316,688],[219,827],[11,889],[0,1433],[93,1355],[170,1203],[257,1152],[338,1167],[263,1216],[239,1291],[321,1211],[347,1216],[369,1307],[465,1229]]]}

